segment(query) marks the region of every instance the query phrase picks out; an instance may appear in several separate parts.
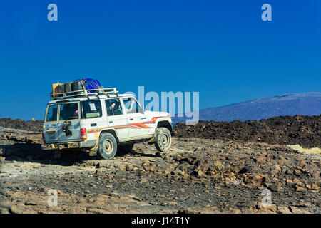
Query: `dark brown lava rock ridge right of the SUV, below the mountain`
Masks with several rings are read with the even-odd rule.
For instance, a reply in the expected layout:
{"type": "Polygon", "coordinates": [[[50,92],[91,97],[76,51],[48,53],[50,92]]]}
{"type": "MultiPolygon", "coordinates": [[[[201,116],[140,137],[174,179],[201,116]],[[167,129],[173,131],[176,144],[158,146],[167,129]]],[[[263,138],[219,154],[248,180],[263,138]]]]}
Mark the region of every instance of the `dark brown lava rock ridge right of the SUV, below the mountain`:
{"type": "Polygon", "coordinates": [[[321,147],[321,115],[279,116],[244,122],[199,121],[196,125],[178,123],[175,136],[321,147]]]}

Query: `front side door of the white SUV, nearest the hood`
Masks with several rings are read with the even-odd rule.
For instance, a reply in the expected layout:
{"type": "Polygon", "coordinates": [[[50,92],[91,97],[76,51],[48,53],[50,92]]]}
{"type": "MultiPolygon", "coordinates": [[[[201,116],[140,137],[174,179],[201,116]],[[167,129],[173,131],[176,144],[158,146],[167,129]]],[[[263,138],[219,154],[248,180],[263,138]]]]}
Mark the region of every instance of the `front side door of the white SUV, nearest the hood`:
{"type": "Polygon", "coordinates": [[[148,116],[143,108],[133,97],[123,98],[128,118],[128,138],[140,138],[148,135],[148,116]]]}

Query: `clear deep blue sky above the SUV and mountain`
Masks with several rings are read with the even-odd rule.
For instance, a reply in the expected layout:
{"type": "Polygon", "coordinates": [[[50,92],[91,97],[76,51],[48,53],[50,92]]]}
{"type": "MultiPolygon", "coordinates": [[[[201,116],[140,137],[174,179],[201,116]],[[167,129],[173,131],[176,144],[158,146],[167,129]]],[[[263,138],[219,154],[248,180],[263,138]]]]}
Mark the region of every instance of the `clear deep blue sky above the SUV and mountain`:
{"type": "Polygon", "coordinates": [[[51,84],[80,77],[198,91],[200,108],[320,92],[320,22],[317,0],[1,1],[0,118],[42,120],[51,84]]]}

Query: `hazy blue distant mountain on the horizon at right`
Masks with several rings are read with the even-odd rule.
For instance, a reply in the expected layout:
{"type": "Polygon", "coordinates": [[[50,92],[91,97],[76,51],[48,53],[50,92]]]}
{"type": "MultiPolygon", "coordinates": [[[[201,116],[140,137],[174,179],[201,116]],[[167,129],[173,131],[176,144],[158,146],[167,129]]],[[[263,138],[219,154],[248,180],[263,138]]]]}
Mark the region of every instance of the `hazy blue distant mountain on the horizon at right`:
{"type": "MultiPolygon", "coordinates": [[[[289,93],[200,110],[200,120],[260,120],[279,115],[320,115],[321,93],[289,93]]],[[[174,122],[185,118],[173,117],[174,122]]]]}

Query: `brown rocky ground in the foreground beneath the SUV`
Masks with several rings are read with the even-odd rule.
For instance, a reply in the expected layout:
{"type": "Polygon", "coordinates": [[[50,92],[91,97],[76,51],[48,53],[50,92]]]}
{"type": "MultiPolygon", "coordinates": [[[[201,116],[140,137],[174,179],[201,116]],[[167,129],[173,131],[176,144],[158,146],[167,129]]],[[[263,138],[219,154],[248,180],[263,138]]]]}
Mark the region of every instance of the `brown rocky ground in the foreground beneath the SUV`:
{"type": "Polygon", "coordinates": [[[181,132],[165,156],[141,143],[98,160],[85,152],[55,158],[41,151],[39,131],[0,127],[0,212],[321,212],[319,155],[181,132]],[[48,204],[50,190],[57,206],[48,204]]]}

